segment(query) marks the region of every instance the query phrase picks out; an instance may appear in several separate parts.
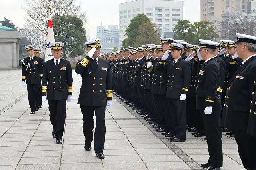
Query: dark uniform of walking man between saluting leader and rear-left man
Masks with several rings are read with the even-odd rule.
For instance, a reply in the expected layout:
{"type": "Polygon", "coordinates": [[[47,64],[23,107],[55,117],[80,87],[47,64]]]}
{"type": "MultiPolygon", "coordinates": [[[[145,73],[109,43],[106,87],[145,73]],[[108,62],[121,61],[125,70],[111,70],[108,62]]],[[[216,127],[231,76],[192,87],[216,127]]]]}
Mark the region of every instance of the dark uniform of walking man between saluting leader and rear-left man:
{"type": "Polygon", "coordinates": [[[72,68],[69,61],[60,58],[58,66],[56,60],[44,63],[42,80],[42,96],[47,96],[50,121],[56,139],[62,138],[66,119],[66,100],[72,95],[72,68]],[[48,81],[48,82],[47,82],[48,81]]]}

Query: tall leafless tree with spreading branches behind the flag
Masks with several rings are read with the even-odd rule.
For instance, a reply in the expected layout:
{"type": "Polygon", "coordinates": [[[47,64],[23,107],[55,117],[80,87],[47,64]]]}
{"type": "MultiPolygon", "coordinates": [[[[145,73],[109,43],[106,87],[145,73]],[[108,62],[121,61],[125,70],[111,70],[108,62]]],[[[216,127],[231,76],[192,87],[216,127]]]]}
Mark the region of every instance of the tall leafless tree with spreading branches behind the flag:
{"type": "Polygon", "coordinates": [[[28,36],[34,38],[41,44],[46,46],[46,35],[48,28],[48,8],[50,6],[51,16],[54,15],[70,15],[77,16],[82,19],[83,24],[87,23],[86,13],[81,12],[82,2],[76,4],[76,0],[24,0],[25,6],[22,9],[26,12],[24,28],[37,30],[28,32],[28,36]]]}

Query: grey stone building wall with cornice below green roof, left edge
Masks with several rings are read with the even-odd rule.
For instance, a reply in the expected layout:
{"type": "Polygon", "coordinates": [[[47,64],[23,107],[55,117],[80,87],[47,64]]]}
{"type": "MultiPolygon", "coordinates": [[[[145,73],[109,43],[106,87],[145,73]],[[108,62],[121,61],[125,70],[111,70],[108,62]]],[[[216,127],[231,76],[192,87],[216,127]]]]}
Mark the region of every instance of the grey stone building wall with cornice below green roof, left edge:
{"type": "Polygon", "coordinates": [[[21,32],[0,30],[0,69],[19,67],[21,32]]]}

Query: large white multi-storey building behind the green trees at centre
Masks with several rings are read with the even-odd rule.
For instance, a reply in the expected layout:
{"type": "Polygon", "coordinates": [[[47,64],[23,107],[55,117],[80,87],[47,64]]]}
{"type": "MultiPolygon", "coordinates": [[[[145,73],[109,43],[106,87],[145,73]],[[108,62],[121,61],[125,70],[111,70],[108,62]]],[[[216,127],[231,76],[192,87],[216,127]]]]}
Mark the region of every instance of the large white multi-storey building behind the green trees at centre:
{"type": "Polygon", "coordinates": [[[144,13],[155,22],[158,32],[173,32],[179,20],[183,20],[183,1],[175,0],[134,0],[119,4],[119,44],[125,34],[125,28],[137,14],[144,13]]]}

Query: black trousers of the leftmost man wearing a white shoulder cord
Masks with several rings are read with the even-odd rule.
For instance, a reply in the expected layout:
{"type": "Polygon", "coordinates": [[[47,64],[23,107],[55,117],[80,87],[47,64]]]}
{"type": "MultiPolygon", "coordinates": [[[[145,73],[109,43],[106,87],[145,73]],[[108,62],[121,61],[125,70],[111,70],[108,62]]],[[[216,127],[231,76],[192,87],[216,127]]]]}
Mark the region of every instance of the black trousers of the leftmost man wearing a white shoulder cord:
{"type": "Polygon", "coordinates": [[[27,84],[27,89],[31,112],[35,112],[36,107],[39,107],[41,84],[27,84]]]}

